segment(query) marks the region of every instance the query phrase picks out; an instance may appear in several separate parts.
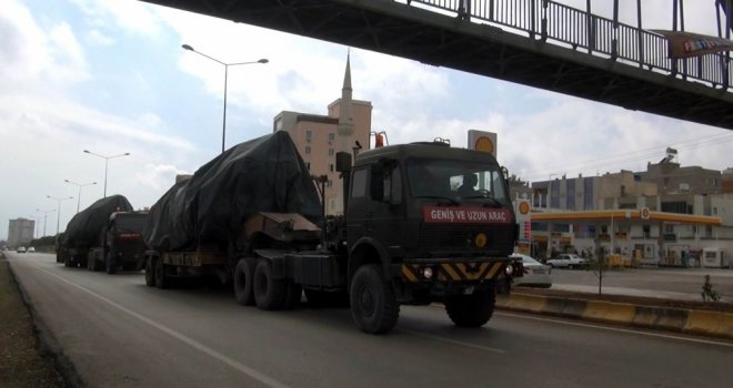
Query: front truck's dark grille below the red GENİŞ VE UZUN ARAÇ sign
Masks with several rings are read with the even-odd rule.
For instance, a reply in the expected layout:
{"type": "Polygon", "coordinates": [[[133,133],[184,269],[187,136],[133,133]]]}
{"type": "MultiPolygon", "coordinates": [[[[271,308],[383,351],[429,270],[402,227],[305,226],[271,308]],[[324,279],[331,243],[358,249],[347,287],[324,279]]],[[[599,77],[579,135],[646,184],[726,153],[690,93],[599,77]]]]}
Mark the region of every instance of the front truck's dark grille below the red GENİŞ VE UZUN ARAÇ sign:
{"type": "Polygon", "coordinates": [[[455,226],[423,224],[418,237],[419,247],[431,252],[476,251],[473,241],[479,233],[488,237],[482,253],[502,255],[513,249],[513,228],[510,225],[455,226]]]}

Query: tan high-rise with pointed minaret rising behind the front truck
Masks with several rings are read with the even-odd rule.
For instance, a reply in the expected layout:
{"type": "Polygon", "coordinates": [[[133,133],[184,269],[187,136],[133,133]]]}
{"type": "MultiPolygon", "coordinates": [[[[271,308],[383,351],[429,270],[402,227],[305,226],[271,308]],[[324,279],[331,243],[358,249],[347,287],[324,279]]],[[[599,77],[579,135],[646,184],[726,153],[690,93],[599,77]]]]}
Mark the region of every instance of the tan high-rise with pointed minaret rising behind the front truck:
{"type": "Polygon", "coordinates": [[[325,176],[322,200],[329,215],[343,213],[343,187],[335,171],[335,153],[368,149],[371,126],[371,102],[352,99],[349,58],[341,98],[329,104],[327,115],[282,111],[273,120],[273,132],[290,134],[311,175],[325,176]]]}

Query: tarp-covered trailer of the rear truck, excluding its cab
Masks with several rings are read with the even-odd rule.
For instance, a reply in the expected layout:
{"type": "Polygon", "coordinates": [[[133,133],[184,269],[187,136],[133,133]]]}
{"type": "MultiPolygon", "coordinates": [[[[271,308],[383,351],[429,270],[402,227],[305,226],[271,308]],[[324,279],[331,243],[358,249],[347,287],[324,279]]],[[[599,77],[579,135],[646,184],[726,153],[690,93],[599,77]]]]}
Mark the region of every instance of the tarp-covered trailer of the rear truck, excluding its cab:
{"type": "Polygon", "coordinates": [[[118,212],[132,212],[132,205],[123,195],[111,195],[98,200],[89,207],[77,213],[58,238],[57,262],[67,267],[89,267],[97,256],[92,249],[104,245],[106,231],[110,216],[118,212]]]}

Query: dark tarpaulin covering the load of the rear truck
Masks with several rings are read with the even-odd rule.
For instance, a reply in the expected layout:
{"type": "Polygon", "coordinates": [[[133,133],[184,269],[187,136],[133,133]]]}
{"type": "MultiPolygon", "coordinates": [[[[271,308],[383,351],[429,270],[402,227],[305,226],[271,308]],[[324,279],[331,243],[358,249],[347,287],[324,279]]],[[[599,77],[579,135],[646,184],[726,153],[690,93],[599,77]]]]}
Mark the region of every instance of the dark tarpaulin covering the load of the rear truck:
{"type": "Polygon", "coordinates": [[[99,246],[102,228],[114,212],[132,212],[134,208],[123,195],[112,195],[101,198],[83,211],[77,213],[61,237],[61,244],[67,247],[99,246]]]}

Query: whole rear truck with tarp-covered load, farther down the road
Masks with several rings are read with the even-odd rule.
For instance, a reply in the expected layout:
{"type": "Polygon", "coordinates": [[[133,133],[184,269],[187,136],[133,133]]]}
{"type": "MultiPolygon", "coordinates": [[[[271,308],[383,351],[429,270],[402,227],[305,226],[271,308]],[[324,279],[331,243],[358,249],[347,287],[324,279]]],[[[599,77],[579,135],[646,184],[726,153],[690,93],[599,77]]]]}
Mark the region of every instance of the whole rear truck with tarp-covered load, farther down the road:
{"type": "Polygon", "coordinates": [[[145,251],[140,233],[145,217],[122,195],[101,198],[69,221],[57,243],[57,262],[108,274],[133,269],[145,251]]]}

